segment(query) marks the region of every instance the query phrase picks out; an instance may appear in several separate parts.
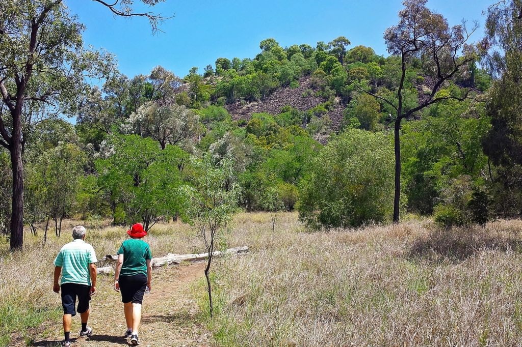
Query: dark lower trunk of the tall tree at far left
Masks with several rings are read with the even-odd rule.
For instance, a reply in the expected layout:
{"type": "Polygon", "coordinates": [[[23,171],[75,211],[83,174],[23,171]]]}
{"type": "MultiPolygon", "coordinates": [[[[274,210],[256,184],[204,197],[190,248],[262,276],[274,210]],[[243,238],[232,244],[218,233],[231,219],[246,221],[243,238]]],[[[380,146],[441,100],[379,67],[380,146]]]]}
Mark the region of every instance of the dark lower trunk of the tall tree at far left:
{"type": "Polygon", "coordinates": [[[13,168],[13,201],[11,211],[10,250],[21,250],[23,247],[23,164],[20,146],[20,129],[13,131],[11,144],[11,167],[13,168]]]}

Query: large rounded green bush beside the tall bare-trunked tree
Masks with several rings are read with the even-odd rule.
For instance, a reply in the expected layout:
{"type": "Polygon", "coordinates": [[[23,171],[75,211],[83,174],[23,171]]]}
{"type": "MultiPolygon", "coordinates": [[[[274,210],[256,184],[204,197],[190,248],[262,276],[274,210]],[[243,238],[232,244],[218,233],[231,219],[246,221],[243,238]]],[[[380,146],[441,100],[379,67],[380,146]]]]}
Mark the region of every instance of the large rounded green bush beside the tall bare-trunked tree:
{"type": "Polygon", "coordinates": [[[351,129],[314,158],[301,184],[299,216],[310,227],[350,227],[389,218],[393,147],[383,134],[351,129]]]}

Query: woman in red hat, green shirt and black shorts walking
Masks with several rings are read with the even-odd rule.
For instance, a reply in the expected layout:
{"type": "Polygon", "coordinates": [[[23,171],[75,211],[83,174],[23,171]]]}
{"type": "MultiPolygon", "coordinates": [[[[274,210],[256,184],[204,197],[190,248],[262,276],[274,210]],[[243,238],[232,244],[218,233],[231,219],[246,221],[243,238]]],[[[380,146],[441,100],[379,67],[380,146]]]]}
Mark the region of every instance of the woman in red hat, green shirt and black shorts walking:
{"type": "Polygon", "coordinates": [[[141,320],[141,303],[145,291],[150,290],[152,254],[147,242],[141,240],[147,235],[141,224],[135,224],[127,231],[131,237],[123,241],[118,250],[118,263],[114,275],[114,289],[122,293],[127,331],[125,338],[131,337],[131,344],[138,345],[138,328],[141,320]]]}

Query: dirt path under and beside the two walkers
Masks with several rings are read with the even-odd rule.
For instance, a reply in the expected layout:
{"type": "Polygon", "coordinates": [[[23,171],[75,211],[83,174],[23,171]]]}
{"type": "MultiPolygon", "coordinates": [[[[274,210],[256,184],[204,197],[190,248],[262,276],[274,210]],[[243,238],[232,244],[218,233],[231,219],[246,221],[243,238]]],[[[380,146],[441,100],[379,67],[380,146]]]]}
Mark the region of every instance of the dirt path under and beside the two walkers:
{"type": "MultiPolygon", "coordinates": [[[[203,276],[204,264],[160,268],[153,271],[152,291],[144,298],[140,346],[209,346],[209,333],[198,322],[197,304],[190,287],[203,276]]],[[[120,293],[112,289],[113,278],[100,276],[98,293],[91,301],[90,338],[78,337],[79,317],[73,317],[71,340],[78,347],[128,346],[123,338],[125,318],[120,293]]],[[[79,315],[78,315],[79,316],[79,315]]],[[[60,346],[63,340],[61,322],[50,327],[46,337],[33,346],[60,346]]]]}

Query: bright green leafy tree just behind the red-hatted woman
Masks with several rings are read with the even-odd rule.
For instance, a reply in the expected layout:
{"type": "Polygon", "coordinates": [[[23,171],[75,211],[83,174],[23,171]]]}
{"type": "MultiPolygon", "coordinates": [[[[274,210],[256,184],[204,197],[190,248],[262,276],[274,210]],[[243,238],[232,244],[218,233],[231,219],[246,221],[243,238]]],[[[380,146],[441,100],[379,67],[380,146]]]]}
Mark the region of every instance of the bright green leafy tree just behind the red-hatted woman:
{"type": "Polygon", "coordinates": [[[149,229],[159,220],[180,213],[183,203],[178,188],[188,154],[137,135],[119,135],[108,141],[103,157],[96,160],[99,186],[110,200],[121,204],[128,224],[143,222],[149,229]]]}

